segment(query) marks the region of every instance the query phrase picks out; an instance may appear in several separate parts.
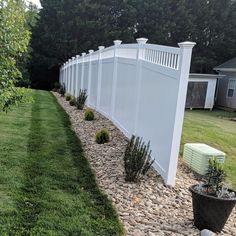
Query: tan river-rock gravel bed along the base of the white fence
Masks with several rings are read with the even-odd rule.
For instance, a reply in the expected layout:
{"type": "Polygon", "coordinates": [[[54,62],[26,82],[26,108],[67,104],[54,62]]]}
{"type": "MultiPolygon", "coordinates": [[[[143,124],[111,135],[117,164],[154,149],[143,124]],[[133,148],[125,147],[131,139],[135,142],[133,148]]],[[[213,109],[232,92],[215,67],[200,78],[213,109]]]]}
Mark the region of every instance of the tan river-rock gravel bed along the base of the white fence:
{"type": "MultiPolygon", "coordinates": [[[[192,202],[188,191],[196,179],[181,161],[174,188],[165,186],[153,169],[139,183],[125,182],[122,158],[126,137],[100,113],[94,111],[95,120],[85,121],[83,111],[70,106],[58,93],[53,94],[69,114],[97,182],[117,209],[126,235],[199,235],[199,230],[193,226],[192,202]],[[95,133],[102,128],[109,130],[111,141],[99,145],[95,142],[95,133]]],[[[219,235],[236,235],[235,209],[219,235]]]]}

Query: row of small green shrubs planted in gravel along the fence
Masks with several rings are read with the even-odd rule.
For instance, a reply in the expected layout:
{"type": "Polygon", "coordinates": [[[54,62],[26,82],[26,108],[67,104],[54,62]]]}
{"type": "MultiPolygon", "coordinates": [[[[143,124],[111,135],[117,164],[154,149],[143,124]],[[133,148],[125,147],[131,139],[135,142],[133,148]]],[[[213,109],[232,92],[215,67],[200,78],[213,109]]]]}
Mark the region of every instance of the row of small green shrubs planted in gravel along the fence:
{"type": "MultiPolygon", "coordinates": [[[[61,86],[58,92],[62,96],[65,96],[65,86],[61,86]]],[[[71,106],[76,106],[79,110],[83,110],[87,97],[87,91],[80,90],[77,99],[67,95],[66,101],[69,101],[71,106]]],[[[93,121],[94,118],[94,112],[87,108],[84,112],[84,119],[86,121],[93,121]]],[[[98,131],[96,133],[95,140],[98,144],[108,143],[110,141],[110,134],[108,130],[102,129],[98,131]]],[[[151,158],[150,142],[146,144],[142,138],[132,135],[127,144],[123,159],[125,180],[129,182],[137,182],[147,173],[154,161],[151,158]]]]}

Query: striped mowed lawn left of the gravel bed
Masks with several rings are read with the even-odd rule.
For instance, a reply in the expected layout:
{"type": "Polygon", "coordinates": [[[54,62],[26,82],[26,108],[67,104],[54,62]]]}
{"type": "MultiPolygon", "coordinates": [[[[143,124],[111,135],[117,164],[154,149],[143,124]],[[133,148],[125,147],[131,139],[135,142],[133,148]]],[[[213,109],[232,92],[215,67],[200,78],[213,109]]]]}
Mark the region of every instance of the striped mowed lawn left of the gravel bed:
{"type": "Polygon", "coordinates": [[[0,235],[122,235],[71,130],[49,92],[0,113],[0,235]]]}

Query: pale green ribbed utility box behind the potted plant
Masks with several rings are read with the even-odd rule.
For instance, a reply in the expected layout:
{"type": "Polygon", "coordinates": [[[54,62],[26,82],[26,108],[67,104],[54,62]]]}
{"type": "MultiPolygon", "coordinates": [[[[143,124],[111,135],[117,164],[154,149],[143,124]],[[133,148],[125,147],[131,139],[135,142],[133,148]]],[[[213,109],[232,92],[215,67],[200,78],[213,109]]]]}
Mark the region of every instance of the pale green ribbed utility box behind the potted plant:
{"type": "Polygon", "coordinates": [[[225,161],[225,153],[203,143],[186,143],[184,145],[184,162],[200,175],[206,174],[209,159],[216,158],[220,163],[225,161]]]}

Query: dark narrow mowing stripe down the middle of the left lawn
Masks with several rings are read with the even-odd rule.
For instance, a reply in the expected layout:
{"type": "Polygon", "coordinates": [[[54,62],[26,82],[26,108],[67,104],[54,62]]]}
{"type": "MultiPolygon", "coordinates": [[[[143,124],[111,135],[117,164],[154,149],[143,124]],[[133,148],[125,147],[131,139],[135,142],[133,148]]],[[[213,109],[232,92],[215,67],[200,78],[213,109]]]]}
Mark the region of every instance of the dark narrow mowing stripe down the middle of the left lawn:
{"type": "Polygon", "coordinates": [[[44,188],[40,176],[43,175],[41,165],[42,157],[39,155],[42,148],[42,127],[40,119],[38,96],[35,96],[35,103],[32,105],[30,132],[28,137],[28,158],[29,165],[25,166],[25,184],[21,188],[20,199],[17,207],[19,212],[19,225],[14,231],[21,235],[30,235],[30,230],[37,222],[42,205],[40,199],[44,194],[44,188]]]}

